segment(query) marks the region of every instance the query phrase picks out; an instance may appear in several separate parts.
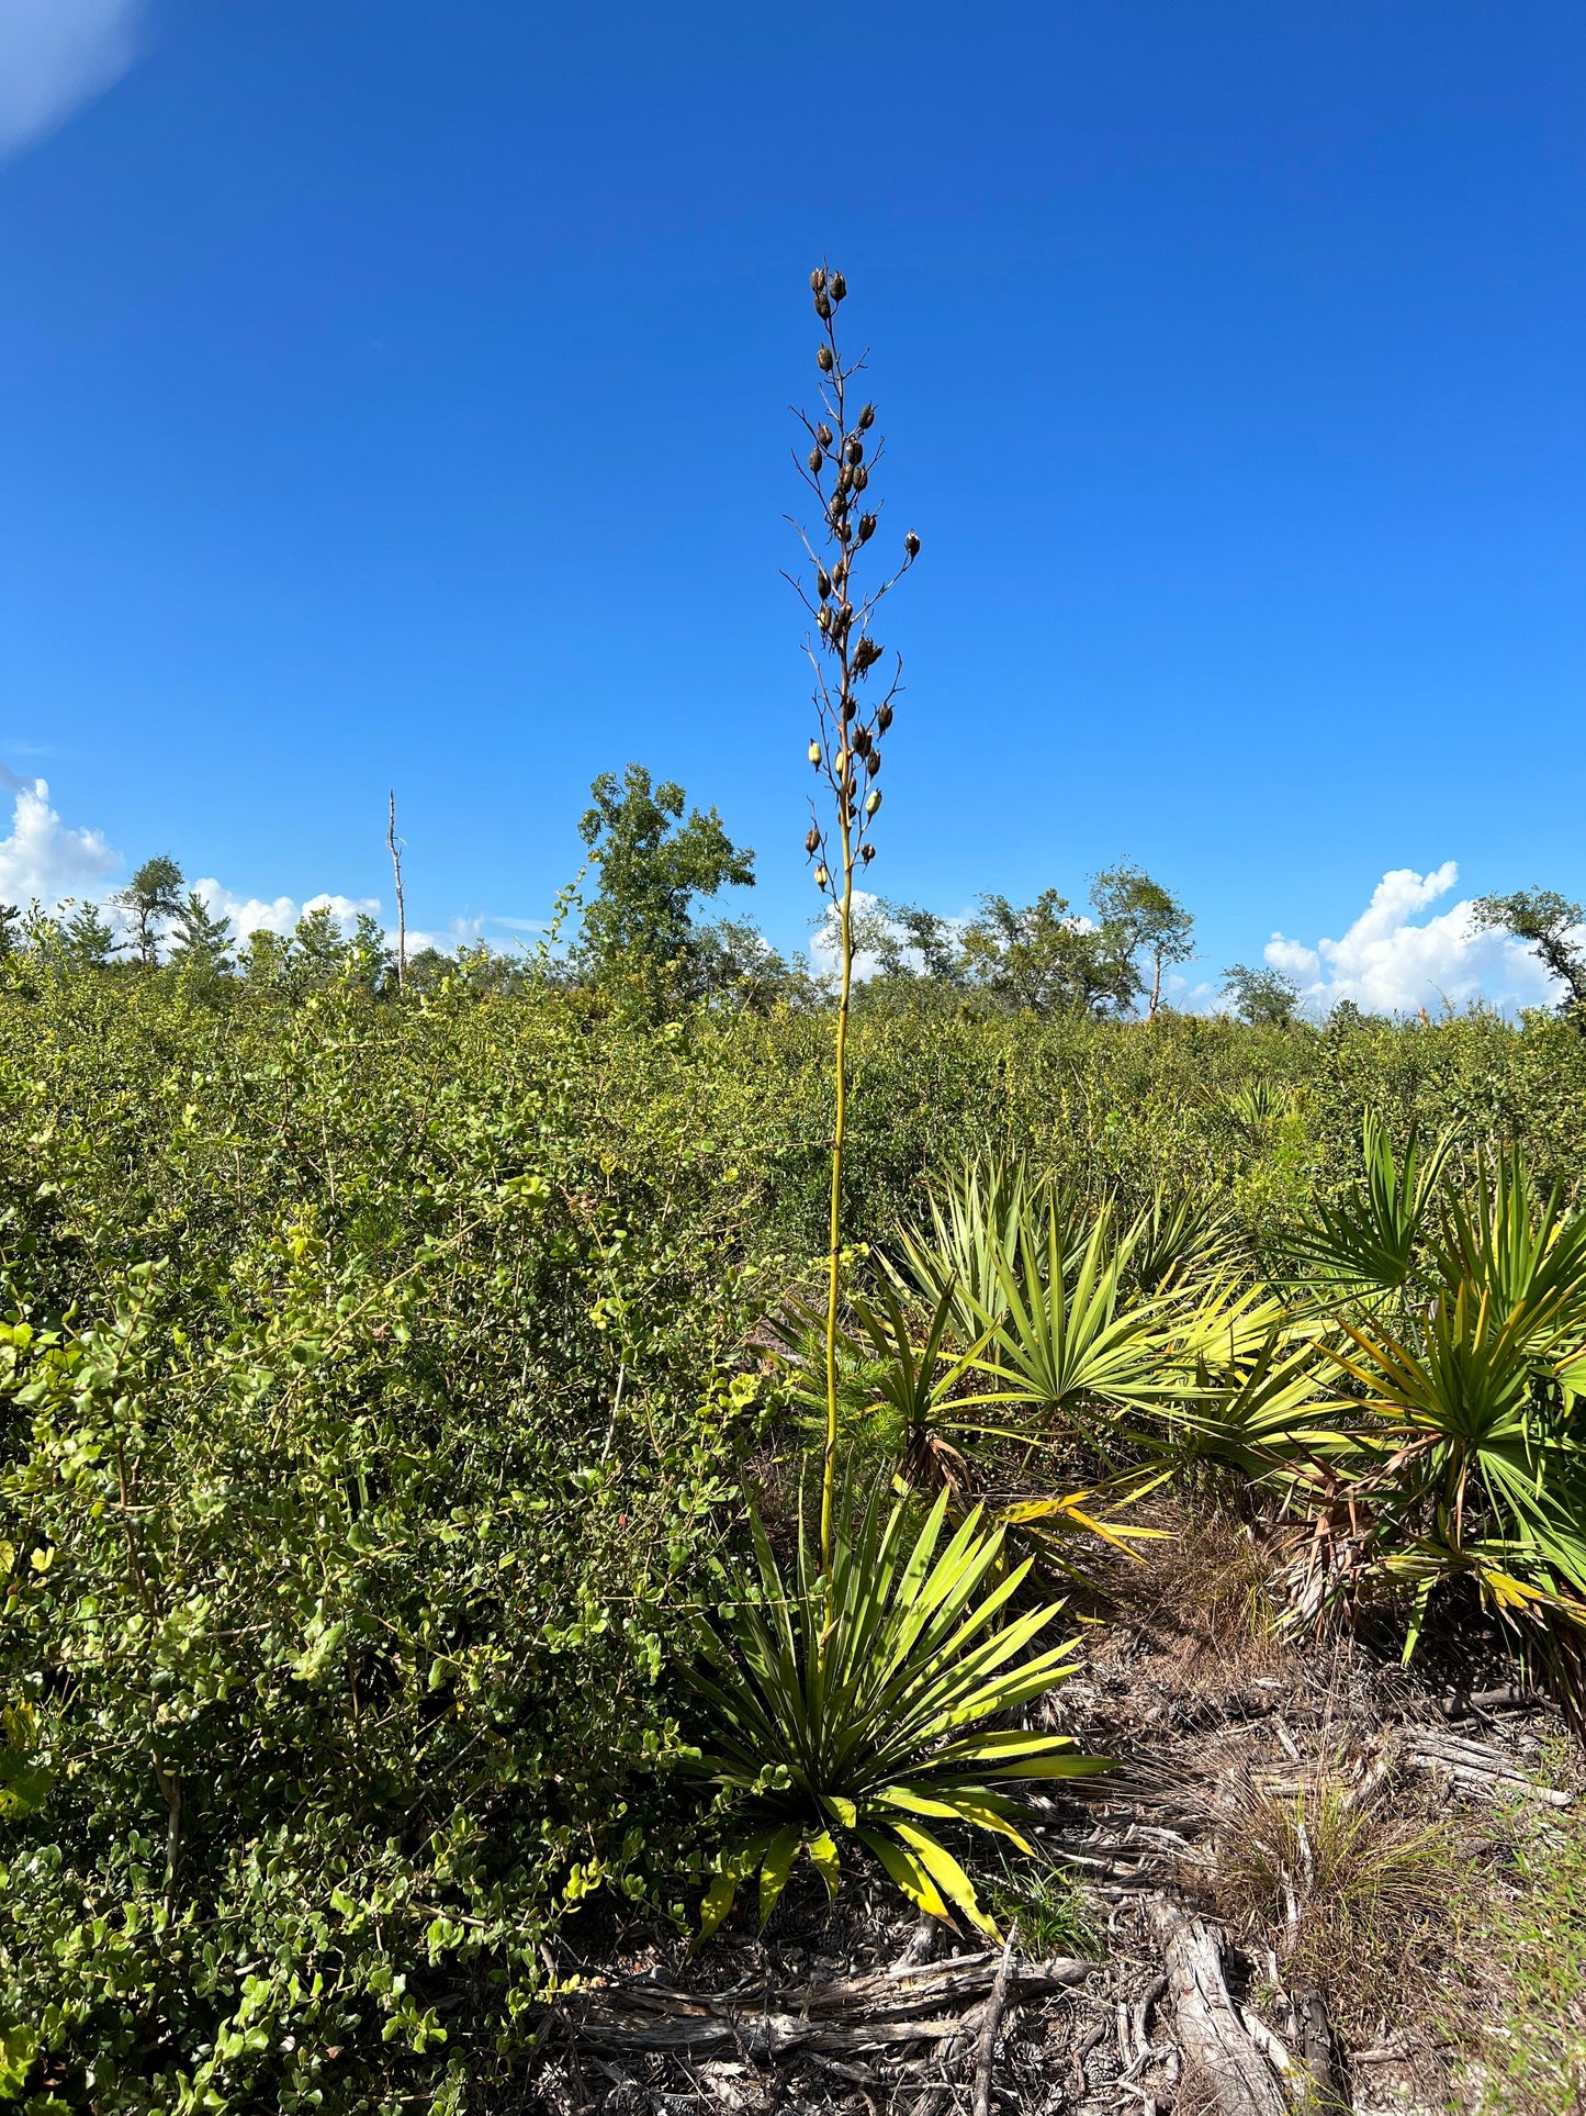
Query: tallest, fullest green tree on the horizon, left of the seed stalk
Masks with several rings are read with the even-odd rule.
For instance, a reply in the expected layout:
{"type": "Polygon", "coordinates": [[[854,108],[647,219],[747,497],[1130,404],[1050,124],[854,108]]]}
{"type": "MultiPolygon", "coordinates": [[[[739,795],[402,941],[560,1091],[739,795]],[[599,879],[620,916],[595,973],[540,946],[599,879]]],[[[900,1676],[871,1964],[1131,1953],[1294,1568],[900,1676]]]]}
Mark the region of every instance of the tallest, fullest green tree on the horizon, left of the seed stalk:
{"type": "Polygon", "coordinates": [[[668,1014],[691,997],[696,897],[755,882],[755,855],[732,842],[715,808],[694,808],[672,779],[651,783],[630,764],[590,787],[579,823],[601,887],[584,910],[577,961],[596,986],[620,990],[641,1011],[668,1014]]]}

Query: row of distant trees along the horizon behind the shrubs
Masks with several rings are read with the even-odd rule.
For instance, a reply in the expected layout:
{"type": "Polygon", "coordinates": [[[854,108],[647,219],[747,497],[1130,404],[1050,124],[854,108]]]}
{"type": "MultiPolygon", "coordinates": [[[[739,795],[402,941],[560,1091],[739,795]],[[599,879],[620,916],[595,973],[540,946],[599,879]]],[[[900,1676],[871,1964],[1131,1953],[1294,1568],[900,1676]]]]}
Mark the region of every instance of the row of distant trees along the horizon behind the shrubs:
{"type": "MultiPolygon", "coordinates": [[[[398,961],[379,918],[359,912],[345,931],[319,906],[292,933],[239,935],[195,889],[169,853],[146,859],[108,908],[66,899],[53,912],[0,904],[0,959],[63,973],[169,971],[199,986],[269,988],[281,997],[349,982],[376,997],[425,995],[450,982],[467,990],[579,988],[649,1018],[691,1007],[768,1011],[820,1007],[827,982],[810,961],[778,952],[749,918],[700,916],[725,889],[755,884],[755,853],[734,844],[715,808],[689,808],[677,781],[653,781],[643,764],[622,779],[603,772],[579,821],[586,863],[563,891],[535,948],[484,942],[436,946],[398,961]],[[575,920],[567,946],[560,929],[575,920]]],[[[1561,1011],[1586,1024],[1586,954],[1575,933],[1580,904],[1531,889],[1480,897],[1482,929],[1525,942],[1556,978],[1561,1011]]],[[[1036,1016],[1089,1014],[1150,1020],[1167,1001],[1165,978],[1195,956],[1195,916],[1133,861],[1089,878],[1076,908],[1057,889],[1032,904],[985,893],[969,916],[867,897],[854,916],[865,967],[865,1009],[1004,1009],[1036,1016]]],[[[816,935],[816,952],[820,935],[816,935]]],[[[1292,1024],[1298,984],[1279,969],[1233,963],[1220,995],[1231,1014],[1262,1026],[1292,1024]]]]}

